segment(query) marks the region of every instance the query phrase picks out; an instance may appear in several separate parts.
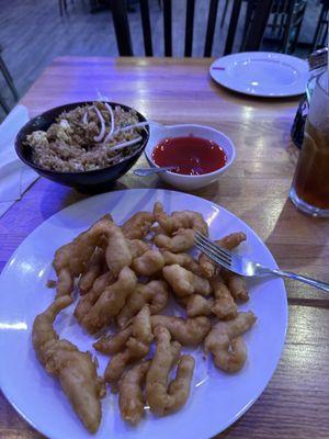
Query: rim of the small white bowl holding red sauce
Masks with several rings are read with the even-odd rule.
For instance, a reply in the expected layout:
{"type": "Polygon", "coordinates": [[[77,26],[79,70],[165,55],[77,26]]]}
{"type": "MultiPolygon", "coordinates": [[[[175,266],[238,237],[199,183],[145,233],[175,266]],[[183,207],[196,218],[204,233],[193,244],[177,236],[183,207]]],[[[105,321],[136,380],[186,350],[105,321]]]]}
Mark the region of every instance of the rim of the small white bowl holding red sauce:
{"type": "MultiPolygon", "coordinates": [[[[156,125],[156,126],[157,126],[157,125],[156,125]]],[[[200,125],[200,124],[174,124],[174,125],[163,125],[163,127],[164,127],[164,128],[169,128],[169,130],[170,130],[170,128],[181,128],[181,127],[184,127],[184,128],[188,128],[188,127],[191,127],[191,128],[205,128],[205,130],[207,130],[207,131],[212,131],[212,132],[214,132],[214,133],[216,133],[216,134],[219,134],[219,135],[223,136],[223,137],[225,138],[225,140],[226,140],[228,144],[230,144],[230,146],[231,146],[231,157],[230,157],[230,159],[227,160],[227,162],[226,162],[225,166],[223,166],[222,168],[216,169],[215,171],[206,172],[206,173],[200,173],[200,175],[197,175],[197,176],[190,176],[190,175],[185,175],[185,173],[178,173],[178,172],[172,172],[172,171],[164,171],[163,173],[167,175],[167,176],[172,176],[172,177],[175,177],[175,178],[180,178],[180,179],[182,179],[182,180],[191,180],[192,178],[195,179],[195,180],[196,180],[196,179],[202,180],[202,179],[205,179],[206,177],[214,177],[214,176],[216,176],[216,175],[219,175],[219,173],[225,172],[225,171],[231,166],[231,164],[235,161],[235,158],[236,158],[236,146],[235,146],[234,142],[232,142],[226,134],[224,134],[222,131],[216,130],[216,128],[214,128],[213,126],[200,125]]],[[[152,125],[150,124],[150,135],[149,135],[149,139],[151,138],[152,130],[154,130],[154,127],[152,127],[152,125]]],[[[172,137],[180,137],[180,136],[172,136],[172,137]]],[[[201,137],[202,137],[202,136],[201,136],[201,137]]],[[[163,137],[163,138],[166,138],[166,137],[163,137]]],[[[205,137],[204,137],[204,138],[205,138],[205,137]]],[[[149,143],[149,139],[148,139],[148,143],[149,143]]],[[[157,144],[157,145],[158,145],[158,144],[157,144]]],[[[155,145],[152,148],[151,148],[151,147],[149,148],[149,149],[151,149],[151,153],[155,150],[155,148],[157,147],[157,145],[155,145]]],[[[227,151],[225,150],[225,147],[223,147],[222,145],[218,145],[218,144],[217,144],[217,146],[220,147],[220,148],[223,148],[224,151],[225,151],[225,154],[227,155],[227,151]]],[[[146,145],[146,148],[145,148],[144,154],[145,154],[145,157],[147,158],[147,161],[148,161],[149,164],[151,164],[151,167],[154,167],[154,168],[160,168],[160,166],[158,166],[158,165],[154,161],[154,159],[152,159],[152,157],[151,157],[151,153],[150,153],[150,155],[148,154],[148,148],[147,148],[147,145],[146,145]]]]}

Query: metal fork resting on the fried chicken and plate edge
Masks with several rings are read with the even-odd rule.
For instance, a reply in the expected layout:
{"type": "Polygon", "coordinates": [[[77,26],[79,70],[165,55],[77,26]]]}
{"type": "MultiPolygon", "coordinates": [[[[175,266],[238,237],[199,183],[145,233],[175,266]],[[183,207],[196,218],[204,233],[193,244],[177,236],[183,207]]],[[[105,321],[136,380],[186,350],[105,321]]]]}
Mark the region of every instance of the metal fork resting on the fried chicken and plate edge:
{"type": "Polygon", "coordinates": [[[280,269],[273,269],[264,267],[261,263],[253,262],[242,256],[235,255],[223,247],[217,246],[206,236],[200,232],[195,232],[194,236],[195,247],[205,254],[209,259],[219,266],[232,271],[234,273],[247,277],[259,277],[263,274],[275,274],[284,278],[295,279],[297,281],[308,283],[319,290],[327,291],[329,293],[329,283],[317,281],[306,275],[292,273],[291,271],[283,271],[280,269]]]}

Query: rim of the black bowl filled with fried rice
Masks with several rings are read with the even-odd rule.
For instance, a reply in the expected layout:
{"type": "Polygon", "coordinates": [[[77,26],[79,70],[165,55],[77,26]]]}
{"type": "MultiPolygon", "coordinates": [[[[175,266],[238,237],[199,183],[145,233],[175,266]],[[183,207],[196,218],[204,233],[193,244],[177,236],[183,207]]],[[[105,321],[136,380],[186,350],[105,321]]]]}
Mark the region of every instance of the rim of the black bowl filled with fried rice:
{"type": "MultiPolygon", "coordinates": [[[[21,150],[20,150],[20,145],[19,145],[19,143],[22,144],[24,140],[21,140],[21,139],[19,140],[19,138],[20,138],[20,136],[21,136],[21,133],[26,128],[27,125],[32,124],[33,122],[35,122],[35,120],[37,120],[37,119],[39,119],[39,117],[43,117],[43,116],[48,115],[48,114],[52,113],[54,110],[55,110],[55,111],[59,111],[59,110],[65,111],[68,106],[70,108],[70,110],[73,110],[76,106],[86,105],[86,104],[92,104],[93,102],[98,102],[98,100],[94,100],[94,101],[69,102],[69,103],[61,104],[61,105],[58,105],[58,106],[53,106],[52,109],[46,110],[46,111],[44,111],[43,113],[41,113],[41,114],[38,114],[38,115],[36,115],[36,116],[30,119],[30,121],[27,121],[27,122],[20,128],[19,133],[18,133],[16,136],[15,136],[14,148],[15,148],[15,153],[16,153],[16,155],[19,156],[19,158],[20,158],[25,165],[30,166],[31,168],[35,169],[36,171],[39,171],[39,172],[43,172],[43,173],[46,172],[46,173],[53,175],[53,176],[60,175],[60,176],[68,176],[68,177],[71,177],[71,176],[86,176],[86,175],[92,176],[92,175],[95,175],[95,173],[101,172],[101,171],[109,171],[110,169],[115,168],[115,166],[122,165],[122,164],[124,164],[125,161],[132,159],[132,158],[135,157],[137,154],[141,154],[141,153],[145,150],[146,145],[147,145],[147,143],[148,143],[148,140],[149,140],[149,136],[150,136],[150,126],[149,126],[149,125],[146,125],[146,126],[145,126],[146,138],[143,140],[143,144],[141,144],[140,148],[138,148],[133,155],[131,155],[131,156],[124,158],[122,161],[118,161],[117,164],[107,166],[106,168],[90,169],[90,170],[87,170],[87,171],[57,171],[57,170],[54,170],[54,169],[42,168],[41,166],[35,165],[32,160],[27,160],[27,159],[22,155],[22,153],[21,153],[21,150]]],[[[123,104],[123,103],[120,103],[120,102],[112,102],[112,101],[100,101],[100,102],[107,102],[107,103],[111,104],[111,105],[120,105],[120,106],[123,106],[124,109],[134,110],[134,111],[136,111],[136,113],[138,114],[138,117],[140,119],[140,122],[148,122],[148,120],[145,117],[145,115],[141,114],[138,110],[134,109],[133,106],[129,106],[129,105],[126,105],[126,104],[123,104]]],[[[55,122],[55,121],[54,121],[54,122],[55,122]]],[[[53,123],[54,123],[54,122],[53,122],[53,123]]],[[[35,130],[35,131],[36,131],[36,130],[35,130]]]]}

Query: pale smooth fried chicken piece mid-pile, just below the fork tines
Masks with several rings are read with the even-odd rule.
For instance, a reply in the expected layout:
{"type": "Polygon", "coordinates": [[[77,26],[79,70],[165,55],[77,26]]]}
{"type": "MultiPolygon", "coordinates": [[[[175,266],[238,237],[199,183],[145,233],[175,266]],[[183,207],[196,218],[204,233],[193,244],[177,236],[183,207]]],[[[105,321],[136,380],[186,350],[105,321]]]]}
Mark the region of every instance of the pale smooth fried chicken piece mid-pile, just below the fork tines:
{"type": "Polygon", "coordinates": [[[208,295],[212,292],[207,279],[203,279],[177,263],[163,267],[162,274],[178,296],[192,295],[194,293],[208,295]]]}

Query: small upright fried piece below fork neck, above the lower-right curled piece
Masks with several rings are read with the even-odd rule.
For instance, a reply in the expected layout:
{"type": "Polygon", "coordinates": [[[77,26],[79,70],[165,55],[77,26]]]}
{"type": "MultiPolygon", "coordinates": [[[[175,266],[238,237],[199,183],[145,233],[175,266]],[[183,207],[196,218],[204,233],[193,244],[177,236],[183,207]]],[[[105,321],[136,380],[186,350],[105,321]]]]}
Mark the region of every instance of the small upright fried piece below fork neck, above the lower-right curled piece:
{"type": "Polygon", "coordinates": [[[214,304],[211,307],[212,313],[223,320],[235,318],[238,307],[228,288],[218,278],[212,279],[211,285],[215,296],[214,304]]]}

